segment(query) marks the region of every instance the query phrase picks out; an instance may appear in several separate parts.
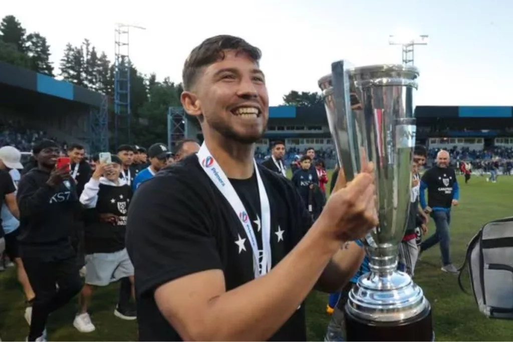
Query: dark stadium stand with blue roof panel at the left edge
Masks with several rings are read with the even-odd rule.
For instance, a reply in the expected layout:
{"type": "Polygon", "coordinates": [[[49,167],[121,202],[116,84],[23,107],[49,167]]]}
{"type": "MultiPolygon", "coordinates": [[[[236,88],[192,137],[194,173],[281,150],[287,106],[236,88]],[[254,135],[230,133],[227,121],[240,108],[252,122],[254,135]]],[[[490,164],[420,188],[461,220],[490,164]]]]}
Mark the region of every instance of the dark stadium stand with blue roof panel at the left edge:
{"type": "Polygon", "coordinates": [[[106,105],[100,93],[0,62],[0,146],[30,152],[47,137],[106,151],[106,105]]]}

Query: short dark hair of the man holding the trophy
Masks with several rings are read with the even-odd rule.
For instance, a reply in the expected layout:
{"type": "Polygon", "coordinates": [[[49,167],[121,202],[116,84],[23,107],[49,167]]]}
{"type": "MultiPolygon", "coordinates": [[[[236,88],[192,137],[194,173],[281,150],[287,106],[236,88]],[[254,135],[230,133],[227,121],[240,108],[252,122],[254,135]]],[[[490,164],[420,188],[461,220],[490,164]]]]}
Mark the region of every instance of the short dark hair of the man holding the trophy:
{"type": "Polygon", "coordinates": [[[236,50],[246,53],[255,63],[259,63],[262,52],[244,39],[231,35],[216,35],[205,39],[192,49],[185,60],[182,71],[184,90],[190,90],[203,67],[225,58],[225,50],[236,50]]]}

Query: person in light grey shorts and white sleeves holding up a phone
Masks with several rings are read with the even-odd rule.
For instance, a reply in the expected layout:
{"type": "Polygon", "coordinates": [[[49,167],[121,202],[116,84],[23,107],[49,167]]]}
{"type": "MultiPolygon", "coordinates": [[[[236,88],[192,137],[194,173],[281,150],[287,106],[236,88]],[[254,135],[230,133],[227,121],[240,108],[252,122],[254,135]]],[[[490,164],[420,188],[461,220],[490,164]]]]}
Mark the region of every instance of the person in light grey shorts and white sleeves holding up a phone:
{"type": "MultiPolygon", "coordinates": [[[[151,150],[151,149],[150,149],[151,150]]],[[[133,266],[125,248],[127,211],[132,197],[130,186],[120,179],[121,159],[112,156],[112,163],[98,163],[80,196],[87,208],[85,227],[86,274],[80,295],[80,309],[73,326],[88,333],[96,328],[87,311],[93,289],[128,277],[133,284],[133,266]]],[[[137,176],[136,176],[137,177],[137,176]]],[[[133,291],[132,291],[133,293],[133,291]]],[[[135,319],[124,293],[120,292],[114,315],[135,319]]]]}

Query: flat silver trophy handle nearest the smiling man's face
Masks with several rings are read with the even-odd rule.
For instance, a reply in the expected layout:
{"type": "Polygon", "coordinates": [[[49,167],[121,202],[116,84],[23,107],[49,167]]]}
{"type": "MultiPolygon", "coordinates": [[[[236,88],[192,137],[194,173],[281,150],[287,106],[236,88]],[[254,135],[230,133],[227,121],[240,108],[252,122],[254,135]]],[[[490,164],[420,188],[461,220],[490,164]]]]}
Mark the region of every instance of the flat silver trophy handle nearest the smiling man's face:
{"type": "MultiPolygon", "coordinates": [[[[351,92],[349,81],[350,64],[347,61],[338,61],[331,64],[331,77],[333,85],[334,115],[328,120],[333,125],[332,134],[339,165],[344,170],[346,180],[350,182],[359,172],[360,156],[354,151],[359,151],[355,144],[354,125],[351,106],[351,92]],[[342,163],[342,160],[351,160],[351,163],[342,163]]],[[[353,106],[358,106],[354,104],[353,106]]]]}

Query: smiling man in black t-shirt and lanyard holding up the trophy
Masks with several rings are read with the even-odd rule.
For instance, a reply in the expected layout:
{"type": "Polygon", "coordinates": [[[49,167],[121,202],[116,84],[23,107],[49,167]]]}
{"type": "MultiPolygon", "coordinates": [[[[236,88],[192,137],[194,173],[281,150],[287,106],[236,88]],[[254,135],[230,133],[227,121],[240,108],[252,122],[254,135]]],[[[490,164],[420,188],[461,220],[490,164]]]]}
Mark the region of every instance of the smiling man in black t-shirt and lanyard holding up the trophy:
{"type": "Polygon", "coordinates": [[[140,340],[306,340],[308,293],[341,288],[360,266],[349,241],[377,224],[372,165],[312,225],[290,180],[254,160],[269,115],[260,56],[221,35],[185,62],[182,105],[205,140],[128,212],[140,340]]]}

